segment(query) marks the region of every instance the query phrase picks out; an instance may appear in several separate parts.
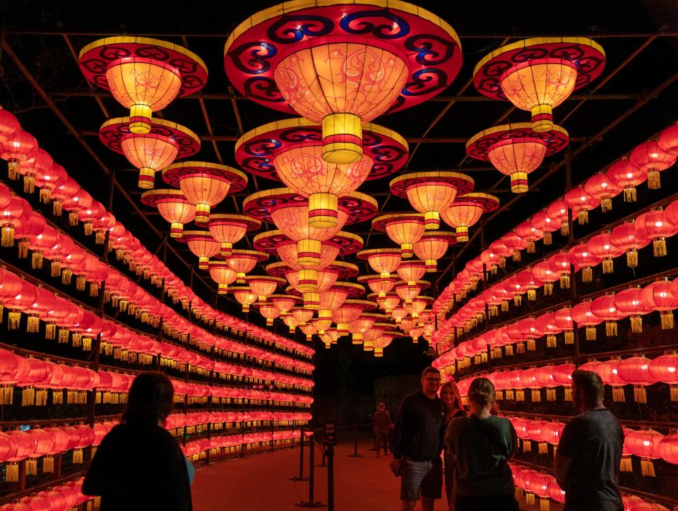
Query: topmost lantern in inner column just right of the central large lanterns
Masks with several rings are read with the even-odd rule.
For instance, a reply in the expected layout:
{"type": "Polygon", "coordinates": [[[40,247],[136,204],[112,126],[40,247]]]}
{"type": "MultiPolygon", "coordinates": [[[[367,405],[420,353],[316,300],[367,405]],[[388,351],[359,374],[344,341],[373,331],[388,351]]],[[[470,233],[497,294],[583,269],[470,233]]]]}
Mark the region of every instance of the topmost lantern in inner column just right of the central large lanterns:
{"type": "Polygon", "coordinates": [[[391,193],[408,198],[412,208],[424,213],[426,229],[438,229],[440,213],[449,208],[459,195],[473,190],[470,176],[458,172],[414,172],[391,180],[391,193]]]}

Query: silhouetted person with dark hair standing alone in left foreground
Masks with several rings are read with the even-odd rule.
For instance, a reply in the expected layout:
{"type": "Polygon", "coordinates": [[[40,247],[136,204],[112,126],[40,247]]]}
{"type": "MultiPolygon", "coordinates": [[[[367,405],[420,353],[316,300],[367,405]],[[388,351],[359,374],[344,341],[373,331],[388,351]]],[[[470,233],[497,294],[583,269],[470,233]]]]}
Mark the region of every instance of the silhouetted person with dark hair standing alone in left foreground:
{"type": "Polygon", "coordinates": [[[186,458],[161,426],[173,401],[164,374],[134,379],[121,423],[102,440],[83,482],[85,495],[101,495],[101,511],[192,510],[186,458]]]}

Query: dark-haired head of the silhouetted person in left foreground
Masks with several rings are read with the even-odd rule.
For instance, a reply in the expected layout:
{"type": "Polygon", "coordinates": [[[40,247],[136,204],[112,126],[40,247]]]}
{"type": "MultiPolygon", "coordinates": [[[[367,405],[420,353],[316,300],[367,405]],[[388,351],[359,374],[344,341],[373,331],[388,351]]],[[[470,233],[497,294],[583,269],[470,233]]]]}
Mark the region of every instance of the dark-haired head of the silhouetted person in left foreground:
{"type": "Polygon", "coordinates": [[[129,389],[122,421],[138,426],[154,426],[167,419],[174,403],[174,387],[166,375],[156,371],[141,373],[129,389]]]}

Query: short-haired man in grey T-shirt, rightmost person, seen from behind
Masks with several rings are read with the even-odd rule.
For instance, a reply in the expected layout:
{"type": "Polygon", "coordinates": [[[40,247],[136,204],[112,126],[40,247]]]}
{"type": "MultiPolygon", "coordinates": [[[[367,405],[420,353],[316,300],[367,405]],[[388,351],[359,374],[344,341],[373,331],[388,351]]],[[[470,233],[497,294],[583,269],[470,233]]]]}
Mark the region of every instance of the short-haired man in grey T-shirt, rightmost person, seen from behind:
{"type": "Polygon", "coordinates": [[[572,401],[580,414],[566,424],[554,461],[564,511],[624,510],[617,488],[624,432],[602,404],[603,392],[597,373],[572,373],[572,401]]]}

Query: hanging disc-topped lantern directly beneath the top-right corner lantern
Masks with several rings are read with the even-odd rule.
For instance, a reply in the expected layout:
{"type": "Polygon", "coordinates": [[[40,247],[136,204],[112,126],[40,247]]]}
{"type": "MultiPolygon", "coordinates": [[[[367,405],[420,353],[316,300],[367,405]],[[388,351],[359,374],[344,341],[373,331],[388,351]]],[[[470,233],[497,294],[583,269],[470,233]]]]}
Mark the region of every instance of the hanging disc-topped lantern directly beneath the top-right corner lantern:
{"type": "Polygon", "coordinates": [[[528,174],[568,143],[569,135],[560,126],[537,133],[530,123],[502,124],[472,136],[466,143],[466,154],[491,162],[501,174],[510,176],[513,193],[525,193],[528,174]]]}

